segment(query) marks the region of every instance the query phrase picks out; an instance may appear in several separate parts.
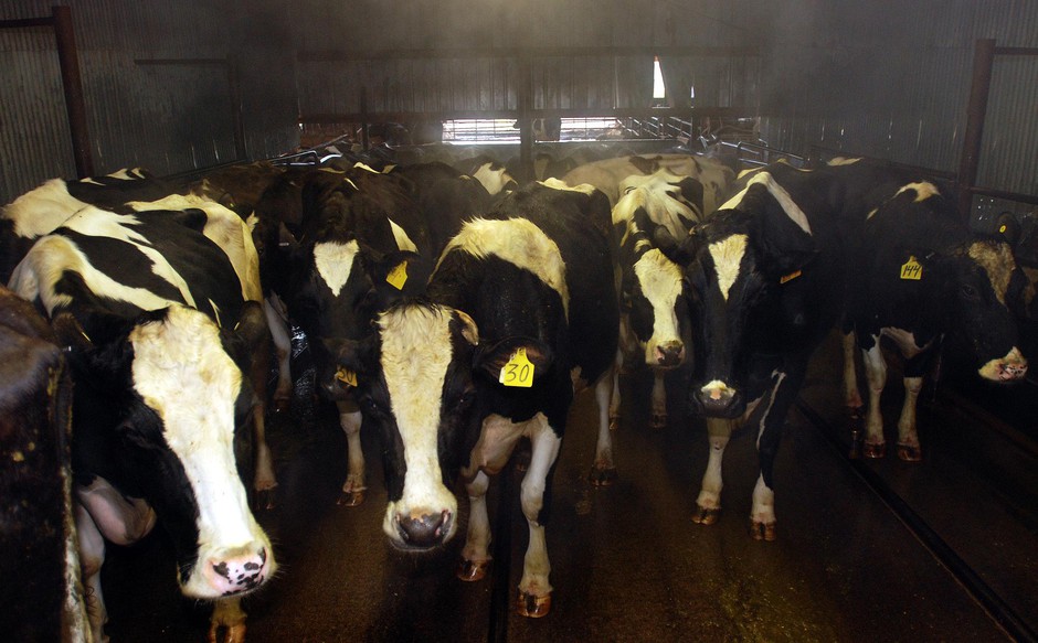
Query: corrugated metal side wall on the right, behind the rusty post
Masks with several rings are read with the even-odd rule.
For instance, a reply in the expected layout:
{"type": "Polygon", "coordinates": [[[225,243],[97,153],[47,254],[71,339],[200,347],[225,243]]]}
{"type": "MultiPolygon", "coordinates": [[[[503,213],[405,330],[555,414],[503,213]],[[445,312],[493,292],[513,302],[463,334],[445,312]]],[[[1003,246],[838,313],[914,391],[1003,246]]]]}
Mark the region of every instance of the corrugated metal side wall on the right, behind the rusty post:
{"type": "MultiPolygon", "coordinates": [[[[1024,0],[791,2],[766,55],[762,136],[956,172],[977,39],[1038,46],[1024,0]],[[809,21],[806,30],[797,29],[809,21]]],[[[764,33],[763,31],[761,33],[764,33]]],[[[997,56],[977,183],[1038,194],[1038,58],[997,56]]]]}

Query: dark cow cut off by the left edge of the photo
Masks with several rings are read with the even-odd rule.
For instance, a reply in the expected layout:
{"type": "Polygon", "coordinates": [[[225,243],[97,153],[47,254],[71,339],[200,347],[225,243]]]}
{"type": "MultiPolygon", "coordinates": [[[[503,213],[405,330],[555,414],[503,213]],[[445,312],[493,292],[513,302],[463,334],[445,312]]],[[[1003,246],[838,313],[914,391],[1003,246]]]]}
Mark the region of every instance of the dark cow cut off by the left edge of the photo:
{"type": "Polygon", "coordinates": [[[86,641],[73,524],[72,379],[32,304],[0,287],[0,631],[86,641]]]}

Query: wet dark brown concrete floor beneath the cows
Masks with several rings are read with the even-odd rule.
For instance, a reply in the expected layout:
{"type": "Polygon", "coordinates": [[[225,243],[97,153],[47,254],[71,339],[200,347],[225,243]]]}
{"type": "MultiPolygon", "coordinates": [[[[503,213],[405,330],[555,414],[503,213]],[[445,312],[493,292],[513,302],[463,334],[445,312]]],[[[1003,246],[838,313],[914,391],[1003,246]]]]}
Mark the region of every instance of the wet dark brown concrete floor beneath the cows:
{"type": "MultiPolygon", "coordinates": [[[[835,347],[830,342],[816,360],[803,397],[823,418],[843,422],[835,347]]],[[[272,433],[282,463],[280,504],[261,519],[282,571],[246,603],[248,641],[475,642],[488,640],[491,621],[498,640],[513,642],[1011,639],[865,484],[844,449],[796,410],[776,464],[778,539],[755,542],[746,531],[756,479],[749,431],[738,433],[725,453],[718,524],[695,524],[707,442],[702,422],[685,418],[685,377],[669,378],[670,424],[658,430],[647,427],[649,374],[625,379],[628,404],[614,435],[619,479],[607,489],[586,481],[593,399],[578,398],[548,525],[552,612],[540,620],[512,610],[527,543],[515,500],[518,474],[507,470],[490,492],[495,537],[510,539],[510,560],[498,557],[490,577],[463,583],[454,576],[460,539],[420,557],[386,544],[373,436],[364,436],[368,500],[339,507],[345,440],[333,418],[278,418],[272,433]],[[509,474],[511,493],[502,497],[509,474]],[[495,582],[507,589],[506,614],[494,609],[495,582]]],[[[897,395],[891,393],[891,404],[897,395]]],[[[975,418],[944,403],[925,409],[920,421],[928,427],[922,463],[888,458],[862,464],[888,481],[1034,631],[1034,458],[975,430],[975,418]]],[[[845,439],[845,425],[839,427],[845,439]]],[[[162,536],[113,549],[104,572],[113,643],[203,641],[205,610],[179,597],[162,536]]]]}

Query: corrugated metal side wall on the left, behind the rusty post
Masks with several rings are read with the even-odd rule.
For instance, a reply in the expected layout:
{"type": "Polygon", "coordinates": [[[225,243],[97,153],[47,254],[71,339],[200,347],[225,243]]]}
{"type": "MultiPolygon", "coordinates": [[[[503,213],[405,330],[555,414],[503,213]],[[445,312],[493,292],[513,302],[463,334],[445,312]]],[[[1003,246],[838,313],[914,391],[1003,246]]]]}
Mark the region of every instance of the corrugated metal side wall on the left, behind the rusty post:
{"type": "MultiPolygon", "coordinates": [[[[49,17],[52,4],[8,1],[0,6],[0,20],[49,17]]],[[[139,61],[230,60],[247,81],[253,60],[272,57],[264,56],[271,42],[289,43],[287,37],[250,43],[255,23],[244,15],[255,2],[65,4],[72,8],[96,172],[140,165],[170,174],[237,158],[227,65],[139,61]]],[[[292,56],[282,51],[274,57],[289,61],[287,77],[267,71],[263,89],[245,85],[239,97],[246,151],[253,158],[284,152],[298,140],[292,56]]],[[[46,179],[75,175],[52,30],[0,30],[0,86],[6,88],[0,93],[0,202],[7,203],[46,179]]]]}

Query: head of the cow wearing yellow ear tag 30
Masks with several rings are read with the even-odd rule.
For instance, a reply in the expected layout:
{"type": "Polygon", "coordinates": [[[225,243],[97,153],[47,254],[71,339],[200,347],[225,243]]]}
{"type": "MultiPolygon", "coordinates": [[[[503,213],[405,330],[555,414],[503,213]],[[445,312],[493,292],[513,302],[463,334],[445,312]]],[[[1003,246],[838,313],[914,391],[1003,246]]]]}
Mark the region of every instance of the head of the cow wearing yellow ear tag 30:
{"type": "Polygon", "coordinates": [[[501,366],[525,347],[533,373],[544,373],[549,350],[531,339],[480,344],[466,313],[422,301],[405,301],[379,315],[378,333],[343,342],[338,358],[356,375],[366,422],[383,432],[389,505],[382,531],[402,549],[428,549],[457,529],[457,499],[451,491],[469,464],[478,427],[473,415],[477,387],[496,382],[501,366]]]}

